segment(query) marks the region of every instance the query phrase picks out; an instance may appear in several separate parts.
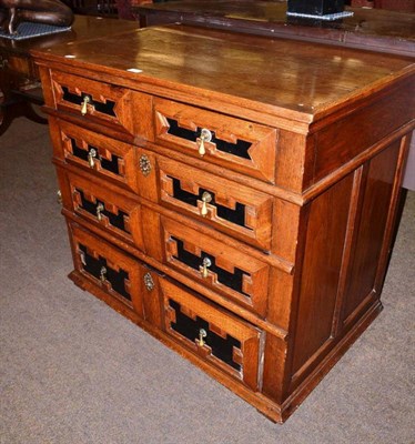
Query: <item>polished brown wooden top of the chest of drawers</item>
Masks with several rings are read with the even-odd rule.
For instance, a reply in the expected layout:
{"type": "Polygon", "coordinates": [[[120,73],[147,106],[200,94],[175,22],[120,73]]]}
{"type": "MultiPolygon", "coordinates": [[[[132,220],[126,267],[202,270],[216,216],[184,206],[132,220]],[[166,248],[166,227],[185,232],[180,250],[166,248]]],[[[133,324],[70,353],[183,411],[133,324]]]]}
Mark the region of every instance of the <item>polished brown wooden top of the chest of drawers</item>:
{"type": "Polygon", "coordinates": [[[32,53],[85,75],[114,75],[120,85],[153,93],[166,88],[196,95],[206,108],[219,100],[304,123],[415,72],[411,58],[185,26],[32,53]]]}

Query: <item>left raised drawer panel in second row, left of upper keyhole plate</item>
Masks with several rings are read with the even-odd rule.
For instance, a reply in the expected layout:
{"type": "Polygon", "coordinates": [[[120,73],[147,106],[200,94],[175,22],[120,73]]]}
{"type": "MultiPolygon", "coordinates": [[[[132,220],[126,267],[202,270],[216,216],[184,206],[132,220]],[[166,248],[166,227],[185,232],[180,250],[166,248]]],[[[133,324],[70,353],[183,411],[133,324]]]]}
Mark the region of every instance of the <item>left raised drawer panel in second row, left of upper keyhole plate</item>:
{"type": "Polygon", "coordinates": [[[138,191],[134,147],[53,118],[50,131],[59,159],[138,191]]]}

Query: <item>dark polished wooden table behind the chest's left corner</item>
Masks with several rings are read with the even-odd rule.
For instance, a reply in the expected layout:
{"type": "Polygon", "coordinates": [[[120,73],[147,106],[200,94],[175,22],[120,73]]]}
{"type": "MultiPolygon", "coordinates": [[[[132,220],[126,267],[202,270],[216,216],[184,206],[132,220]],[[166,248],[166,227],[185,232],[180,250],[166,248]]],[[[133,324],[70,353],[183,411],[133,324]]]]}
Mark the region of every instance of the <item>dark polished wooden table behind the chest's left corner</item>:
{"type": "Polygon", "coordinates": [[[75,16],[69,31],[24,40],[0,38],[0,135],[17,115],[23,114],[32,120],[45,122],[31,108],[32,103],[43,103],[39,72],[30,56],[31,49],[89,41],[136,28],[136,23],[126,20],[75,16]]]}

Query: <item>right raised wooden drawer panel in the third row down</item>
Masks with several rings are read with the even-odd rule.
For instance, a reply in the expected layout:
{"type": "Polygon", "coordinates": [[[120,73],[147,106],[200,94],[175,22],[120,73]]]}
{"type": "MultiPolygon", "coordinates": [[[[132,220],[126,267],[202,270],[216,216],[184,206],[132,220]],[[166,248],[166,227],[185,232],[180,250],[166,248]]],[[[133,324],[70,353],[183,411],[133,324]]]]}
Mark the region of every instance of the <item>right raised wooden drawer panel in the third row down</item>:
{"type": "Polygon", "coordinates": [[[270,265],[161,218],[164,261],[234,302],[265,316],[270,265]]]}

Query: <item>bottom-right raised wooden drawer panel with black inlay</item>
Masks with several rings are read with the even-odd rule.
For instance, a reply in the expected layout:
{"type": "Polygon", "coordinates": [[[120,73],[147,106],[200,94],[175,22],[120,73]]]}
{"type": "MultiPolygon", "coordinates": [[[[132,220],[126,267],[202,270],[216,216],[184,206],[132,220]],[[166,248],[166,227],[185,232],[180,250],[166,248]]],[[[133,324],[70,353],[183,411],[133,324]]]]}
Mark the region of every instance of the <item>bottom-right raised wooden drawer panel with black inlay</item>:
{"type": "Polygon", "coordinates": [[[257,389],[261,332],[160,280],[166,332],[202,359],[257,389]]]}

